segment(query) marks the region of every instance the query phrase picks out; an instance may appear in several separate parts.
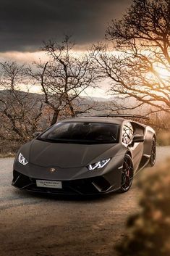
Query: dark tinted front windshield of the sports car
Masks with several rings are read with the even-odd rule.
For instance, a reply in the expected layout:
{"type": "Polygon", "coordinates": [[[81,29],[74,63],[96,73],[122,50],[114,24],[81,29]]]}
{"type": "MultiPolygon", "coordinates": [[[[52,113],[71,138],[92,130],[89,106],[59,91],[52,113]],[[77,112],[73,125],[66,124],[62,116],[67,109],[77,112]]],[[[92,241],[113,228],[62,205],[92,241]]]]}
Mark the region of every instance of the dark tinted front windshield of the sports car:
{"type": "Polygon", "coordinates": [[[119,125],[111,123],[63,122],[53,125],[38,139],[76,144],[108,144],[119,140],[119,125]]]}

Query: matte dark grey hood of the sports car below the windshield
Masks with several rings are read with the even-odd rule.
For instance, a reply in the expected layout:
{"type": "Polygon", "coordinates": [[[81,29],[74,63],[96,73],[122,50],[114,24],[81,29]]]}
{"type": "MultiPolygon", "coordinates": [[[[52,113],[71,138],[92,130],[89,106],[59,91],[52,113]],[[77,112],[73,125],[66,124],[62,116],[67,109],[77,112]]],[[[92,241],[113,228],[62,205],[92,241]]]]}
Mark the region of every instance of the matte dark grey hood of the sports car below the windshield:
{"type": "Polygon", "coordinates": [[[118,151],[119,144],[63,144],[35,139],[30,144],[29,162],[43,167],[75,168],[112,157],[118,151]]]}

